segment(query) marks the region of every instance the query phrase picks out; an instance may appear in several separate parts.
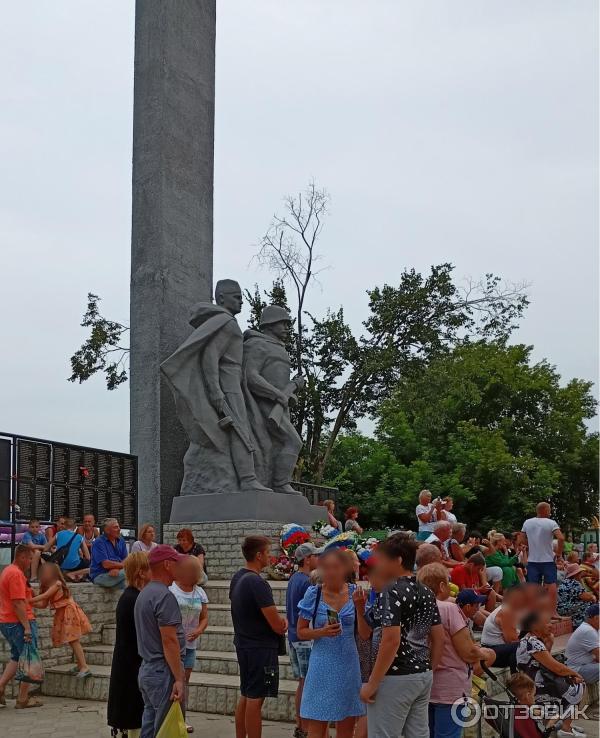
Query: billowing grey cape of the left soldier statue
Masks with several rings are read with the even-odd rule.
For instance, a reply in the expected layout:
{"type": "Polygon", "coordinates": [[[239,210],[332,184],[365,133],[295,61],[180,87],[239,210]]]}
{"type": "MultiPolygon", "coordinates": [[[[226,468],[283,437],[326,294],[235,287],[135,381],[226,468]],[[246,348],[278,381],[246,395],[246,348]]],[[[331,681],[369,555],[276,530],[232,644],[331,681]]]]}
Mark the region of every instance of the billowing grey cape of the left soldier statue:
{"type": "Polygon", "coordinates": [[[173,391],[179,420],[193,443],[206,445],[208,439],[223,448],[225,431],[219,428],[219,417],[208,400],[201,359],[206,346],[232,320],[233,315],[219,305],[198,303],[190,317],[194,332],[160,365],[173,391]]]}

